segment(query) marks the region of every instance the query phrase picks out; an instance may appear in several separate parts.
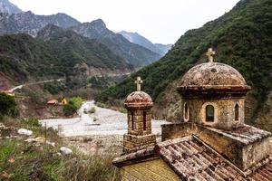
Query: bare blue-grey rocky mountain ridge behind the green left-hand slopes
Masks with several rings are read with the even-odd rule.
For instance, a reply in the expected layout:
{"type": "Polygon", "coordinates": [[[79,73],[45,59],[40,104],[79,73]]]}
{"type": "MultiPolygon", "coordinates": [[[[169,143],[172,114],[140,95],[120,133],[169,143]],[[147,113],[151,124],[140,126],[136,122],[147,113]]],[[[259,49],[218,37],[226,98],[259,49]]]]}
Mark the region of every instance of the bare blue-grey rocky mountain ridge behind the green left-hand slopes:
{"type": "Polygon", "coordinates": [[[27,33],[36,36],[47,24],[71,28],[90,39],[97,39],[112,52],[135,67],[142,67],[160,59],[160,54],[138,44],[130,43],[121,34],[109,30],[101,19],[81,24],[67,14],[36,15],[32,12],[19,14],[0,13],[0,35],[27,33]]]}

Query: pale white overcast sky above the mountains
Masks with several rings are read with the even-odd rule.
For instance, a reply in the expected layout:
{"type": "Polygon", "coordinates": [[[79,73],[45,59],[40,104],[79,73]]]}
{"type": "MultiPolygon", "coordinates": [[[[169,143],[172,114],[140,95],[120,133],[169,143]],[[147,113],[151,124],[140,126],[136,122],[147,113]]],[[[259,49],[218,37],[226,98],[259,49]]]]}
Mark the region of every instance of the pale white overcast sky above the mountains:
{"type": "Polygon", "coordinates": [[[119,32],[137,32],[153,43],[175,43],[180,35],[228,12],[238,0],[10,0],[34,14],[65,13],[80,22],[101,18],[119,32]]]}

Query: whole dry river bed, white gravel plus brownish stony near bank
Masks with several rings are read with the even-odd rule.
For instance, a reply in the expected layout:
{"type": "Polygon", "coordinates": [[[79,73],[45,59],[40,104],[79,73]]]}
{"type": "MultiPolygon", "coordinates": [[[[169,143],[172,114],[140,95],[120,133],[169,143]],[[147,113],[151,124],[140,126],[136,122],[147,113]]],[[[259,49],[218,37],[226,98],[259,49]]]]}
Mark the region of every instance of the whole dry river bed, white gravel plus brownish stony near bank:
{"type": "MultiPolygon", "coordinates": [[[[65,143],[84,154],[120,154],[122,135],[127,133],[127,116],[116,110],[97,107],[93,100],[84,101],[78,118],[42,119],[40,123],[56,129],[65,143]],[[91,113],[89,110],[95,110],[91,113]]],[[[152,133],[160,140],[161,124],[165,120],[152,120],[152,133]]]]}

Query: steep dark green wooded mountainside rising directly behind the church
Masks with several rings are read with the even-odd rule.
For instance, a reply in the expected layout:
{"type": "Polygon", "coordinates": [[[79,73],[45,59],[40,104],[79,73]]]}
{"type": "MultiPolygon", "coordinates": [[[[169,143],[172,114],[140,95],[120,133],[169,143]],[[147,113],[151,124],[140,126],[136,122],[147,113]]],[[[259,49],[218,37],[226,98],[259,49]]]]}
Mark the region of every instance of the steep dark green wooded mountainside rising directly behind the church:
{"type": "MultiPolygon", "coordinates": [[[[253,90],[248,94],[246,115],[247,121],[253,123],[266,105],[268,92],[272,90],[271,11],[271,0],[241,0],[218,19],[199,29],[189,30],[160,61],[102,91],[96,100],[109,104],[123,100],[135,90],[136,76],[141,76],[143,90],[155,102],[155,116],[179,119],[180,111],[177,110],[180,110],[180,96],[176,85],[189,68],[207,62],[205,52],[213,47],[217,52],[216,62],[233,66],[252,86],[253,90]]],[[[266,123],[271,121],[270,117],[266,118],[269,118],[265,120],[266,123]]],[[[272,127],[264,129],[272,130],[272,127]]]]}

